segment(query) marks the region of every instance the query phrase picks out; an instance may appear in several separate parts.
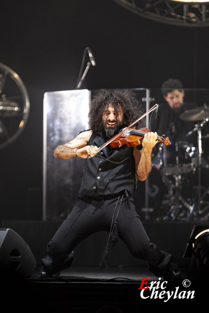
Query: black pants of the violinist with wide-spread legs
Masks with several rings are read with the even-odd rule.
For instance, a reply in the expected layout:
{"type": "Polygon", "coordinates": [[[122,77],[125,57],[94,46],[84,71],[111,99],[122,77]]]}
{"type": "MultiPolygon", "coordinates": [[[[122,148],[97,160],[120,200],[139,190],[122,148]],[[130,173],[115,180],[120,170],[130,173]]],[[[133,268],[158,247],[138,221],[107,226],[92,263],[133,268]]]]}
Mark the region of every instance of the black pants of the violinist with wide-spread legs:
{"type": "Polygon", "coordinates": [[[110,232],[111,224],[115,220],[119,238],[128,246],[133,256],[148,261],[150,270],[156,276],[169,275],[178,268],[169,253],[161,251],[150,242],[136,212],[133,198],[127,197],[127,194],[123,198],[120,195],[119,198],[104,196],[100,199],[79,199],[47,245],[48,256],[56,264],[60,262],[61,270],[65,257],[82,240],[97,231],[110,232]]]}

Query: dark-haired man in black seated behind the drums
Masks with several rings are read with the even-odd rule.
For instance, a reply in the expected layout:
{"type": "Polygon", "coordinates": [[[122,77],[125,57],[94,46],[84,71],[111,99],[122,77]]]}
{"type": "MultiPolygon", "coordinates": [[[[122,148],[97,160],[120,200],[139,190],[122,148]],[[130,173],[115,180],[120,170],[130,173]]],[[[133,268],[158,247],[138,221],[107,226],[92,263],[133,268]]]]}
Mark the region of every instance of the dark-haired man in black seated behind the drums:
{"type": "Polygon", "coordinates": [[[163,82],[161,90],[166,102],[159,105],[157,117],[152,117],[151,130],[159,135],[168,136],[171,144],[196,143],[195,134],[186,136],[194,128],[194,122],[180,119],[182,112],[197,107],[195,103],[184,102],[185,91],[182,82],[170,78],[163,82]]]}

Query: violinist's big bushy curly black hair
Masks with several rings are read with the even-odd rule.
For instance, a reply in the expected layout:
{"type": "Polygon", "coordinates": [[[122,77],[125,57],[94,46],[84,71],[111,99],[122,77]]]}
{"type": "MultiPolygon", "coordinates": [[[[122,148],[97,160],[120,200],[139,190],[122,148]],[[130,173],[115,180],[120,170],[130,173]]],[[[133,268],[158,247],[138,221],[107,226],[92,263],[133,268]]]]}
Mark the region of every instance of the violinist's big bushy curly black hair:
{"type": "MultiPolygon", "coordinates": [[[[103,128],[102,113],[106,106],[112,104],[116,113],[118,104],[123,109],[124,126],[131,125],[143,114],[140,102],[134,91],[130,89],[99,89],[96,90],[90,102],[89,125],[91,129],[98,132],[103,128]]],[[[138,123],[135,126],[139,126],[138,123]]]]}

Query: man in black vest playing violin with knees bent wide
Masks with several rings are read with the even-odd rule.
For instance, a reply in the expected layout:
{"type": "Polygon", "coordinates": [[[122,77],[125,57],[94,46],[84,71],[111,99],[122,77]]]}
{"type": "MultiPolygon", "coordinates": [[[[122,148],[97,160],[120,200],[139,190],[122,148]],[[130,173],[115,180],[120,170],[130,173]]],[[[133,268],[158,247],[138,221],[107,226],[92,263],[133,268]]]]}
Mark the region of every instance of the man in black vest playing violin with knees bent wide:
{"type": "Polygon", "coordinates": [[[141,106],[131,90],[101,89],[90,104],[91,129],[55,149],[55,157],[85,159],[83,179],[78,201],[47,245],[41,276],[69,267],[75,246],[91,234],[105,230],[109,235],[100,268],[106,268],[108,248],[119,238],[133,256],[148,261],[156,276],[166,280],[182,278],[173,257],[150,242],[133,201],[136,178],[145,180],[151,171],[157,134],[144,134],[142,144],[137,147],[123,145],[113,149],[106,145],[98,150],[141,114],[141,106]]]}

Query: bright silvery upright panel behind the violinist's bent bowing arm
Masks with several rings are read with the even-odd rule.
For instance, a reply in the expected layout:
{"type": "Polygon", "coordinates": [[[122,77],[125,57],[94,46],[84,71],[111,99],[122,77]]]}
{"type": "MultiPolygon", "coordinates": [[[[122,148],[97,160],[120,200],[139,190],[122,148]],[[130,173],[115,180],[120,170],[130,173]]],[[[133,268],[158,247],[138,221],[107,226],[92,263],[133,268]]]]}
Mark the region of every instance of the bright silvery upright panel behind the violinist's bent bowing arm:
{"type": "Polygon", "coordinates": [[[87,89],[44,94],[43,220],[65,218],[76,200],[82,179],[83,160],[57,159],[54,149],[88,129],[87,89]]]}

